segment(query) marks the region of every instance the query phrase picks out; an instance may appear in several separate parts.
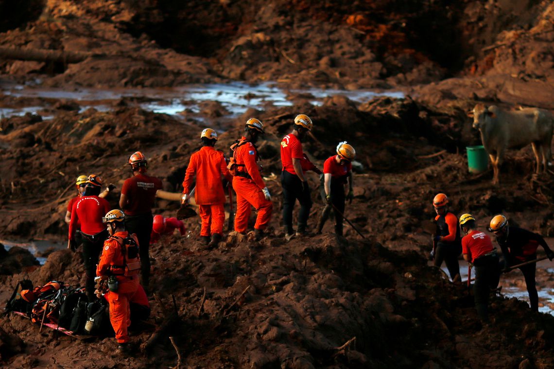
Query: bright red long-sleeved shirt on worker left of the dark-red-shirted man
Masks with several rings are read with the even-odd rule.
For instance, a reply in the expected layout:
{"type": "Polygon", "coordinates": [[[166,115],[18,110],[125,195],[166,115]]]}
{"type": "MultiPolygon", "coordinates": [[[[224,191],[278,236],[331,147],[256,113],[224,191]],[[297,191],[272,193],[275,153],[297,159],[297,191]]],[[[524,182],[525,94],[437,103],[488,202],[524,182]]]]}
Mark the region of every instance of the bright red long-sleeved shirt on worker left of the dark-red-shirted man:
{"type": "Polygon", "coordinates": [[[102,217],[110,211],[110,203],[98,196],[83,196],[75,202],[71,209],[71,221],[69,222],[69,239],[73,240],[76,224],[80,221],[81,232],[86,235],[96,235],[104,231],[106,226],[102,223],[102,217]]]}

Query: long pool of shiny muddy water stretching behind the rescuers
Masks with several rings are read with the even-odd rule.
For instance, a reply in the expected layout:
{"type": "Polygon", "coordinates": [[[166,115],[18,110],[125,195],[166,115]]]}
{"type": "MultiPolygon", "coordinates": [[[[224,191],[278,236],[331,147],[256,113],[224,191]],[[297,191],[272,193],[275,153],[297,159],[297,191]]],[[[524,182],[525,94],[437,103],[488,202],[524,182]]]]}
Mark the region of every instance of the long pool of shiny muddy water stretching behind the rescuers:
{"type": "MultiPolygon", "coordinates": [[[[172,89],[43,89],[40,86],[23,86],[14,84],[2,84],[0,92],[4,96],[14,98],[35,98],[35,106],[9,106],[0,105],[0,118],[10,116],[22,116],[25,113],[36,113],[43,110],[44,105],[49,105],[53,100],[76,101],[81,110],[94,107],[99,111],[108,111],[112,104],[121,98],[127,98],[127,103],[135,104],[145,110],[165,113],[168,115],[183,117],[184,112],[199,113],[199,103],[203,101],[219,102],[228,112],[228,117],[233,118],[242,115],[248,108],[265,110],[268,106],[292,106],[294,96],[302,96],[302,99],[310,101],[313,105],[321,105],[324,98],[333,95],[343,95],[356,102],[369,101],[377,96],[389,96],[402,98],[404,94],[399,91],[373,91],[373,90],[284,90],[273,82],[265,82],[260,85],[248,85],[241,82],[229,84],[187,85],[172,89]],[[36,106],[36,99],[45,99],[45,104],[36,106]],[[50,102],[48,102],[50,101],[50,102]]],[[[52,116],[43,116],[44,119],[52,116]]],[[[202,117],[194,119],[202,123],[202,117]]]]}

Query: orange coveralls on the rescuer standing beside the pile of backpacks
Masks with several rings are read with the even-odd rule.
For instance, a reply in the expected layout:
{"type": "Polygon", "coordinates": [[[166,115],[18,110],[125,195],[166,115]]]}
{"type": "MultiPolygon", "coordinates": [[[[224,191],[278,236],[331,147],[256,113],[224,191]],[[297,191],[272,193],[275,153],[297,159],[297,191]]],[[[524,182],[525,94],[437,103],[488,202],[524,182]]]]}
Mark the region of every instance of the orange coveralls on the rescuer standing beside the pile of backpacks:
{"type": "MultiPolygon", "coordinates": [[[[129,233],[127,231],[117,232],[114,236],[126,238],[129,233]]],[[[135,239],[137,245],[139,240],[136,236],[131,235],[135,239]]],[[[111,266],[122,266],[123,254],[121,253],[121,245],[115,238],[108,238],[104,242],[100,262],[96,267],[96,276],[110,276],[111,266]]],[[[121,271],[121,269],[119,269],[121,271]]],[[[117,292],[109,292],[105,295],[107,302],[110,304],[110,322],[114,327],[115,338],[117,342],[125,343],[129,341],[127,335],[127,327],[131,324],[131,310],[129,309],[129,300],[136,293],[139,287],[139,276],[125,277],[117,276],[118,288],[117,292]]]]}

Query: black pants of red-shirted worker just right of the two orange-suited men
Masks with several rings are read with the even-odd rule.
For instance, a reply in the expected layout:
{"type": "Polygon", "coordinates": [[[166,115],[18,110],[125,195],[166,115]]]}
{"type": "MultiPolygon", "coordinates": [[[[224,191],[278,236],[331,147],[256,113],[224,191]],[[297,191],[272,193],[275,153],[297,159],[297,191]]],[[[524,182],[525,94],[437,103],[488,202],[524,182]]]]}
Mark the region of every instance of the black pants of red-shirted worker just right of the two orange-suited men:
{"type": "Polygon", "coordinates": [[[290,174],[288,171],[281,171],[281,185],[283,186],[283,223],[286,227],[286,233],[293,233],[293,209],[296,200],[300,202],[300,212],[298,214],[298,230],[304,231],[310,216],[311,194],[310,189],[302,191],[302,181],[296,174],[290,174]]]}

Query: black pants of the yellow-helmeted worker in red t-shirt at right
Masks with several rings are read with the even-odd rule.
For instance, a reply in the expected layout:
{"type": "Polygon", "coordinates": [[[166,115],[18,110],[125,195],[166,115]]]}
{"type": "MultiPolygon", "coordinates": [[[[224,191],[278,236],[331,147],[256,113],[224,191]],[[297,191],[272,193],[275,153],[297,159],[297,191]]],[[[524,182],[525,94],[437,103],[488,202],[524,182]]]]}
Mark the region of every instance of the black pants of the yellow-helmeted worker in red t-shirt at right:
{"type": "Polygon", "coordinates": [[[500,280],[500,267],[498,261],[499,257],[494,254],[490,256],[481,256],[473,262],[475,269],[473,296],[475,299],[475,309],[482,321],[489,320],[489,293],[491,289],[498,286],[500,280]]]}

